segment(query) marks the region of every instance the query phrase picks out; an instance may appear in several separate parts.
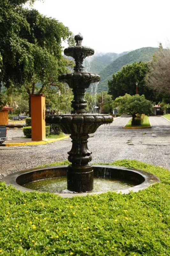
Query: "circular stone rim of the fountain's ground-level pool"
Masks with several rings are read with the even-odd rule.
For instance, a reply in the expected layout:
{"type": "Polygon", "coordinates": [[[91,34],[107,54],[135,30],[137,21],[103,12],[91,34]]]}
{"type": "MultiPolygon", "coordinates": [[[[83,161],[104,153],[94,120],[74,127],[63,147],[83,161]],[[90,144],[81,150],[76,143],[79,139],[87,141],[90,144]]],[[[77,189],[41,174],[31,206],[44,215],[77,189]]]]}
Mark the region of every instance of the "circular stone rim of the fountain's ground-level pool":
{"type": "MultiPolygon", "coordinates": [[[[144,181],[142,183],[140,183],[139,185],[129,187],[128,189],[120,189],[120,190],[110,191],[110,192],[129,194],[130,191],[138,192],[139,190],[148,188],[150,185],[152,185],[156,182],[160,182],[159,178],[156,175],[154,175],[150,172],[139,170],[139,169],[127,168],[127,167],[122,167],[122,166],[114,166],[114,165],[99,165],[99,164],[95,164],[92,166],[96,167],[96,168],[117,169],[119,171],[125,171],[125,172],[130,171],[130,172],[136,173],[137,175],[141,175],[141,178],[144,178],[144,181]]],[[[25,188],[25,187],[19,185],[16,180],[19,176],[22,176],[23,174],[27,174],[27,173],[30,174],[30,173],[34,173],[34,172],[41,172],[44,170],[52,170],[52,169],[54,169],[54,170],[66,169],[67,167],[68,167],[68,165],[55,165],[55,166],[36,167],[36,168],[27,169],[27,170],[23,170],[23,171],[19,171],[19,172],[14,172],[14,173],[9,174],[8,176],[4,177],[2,182],[5,182],[7,186],[13,185],[16,189],[18,189],[22,192],[50,193],[50,192],[46,192],[46,191],[25,188]]],[[[63,176],[59,176],[59,177],[63,177],[63,176]]],[[[73,193],[51,193],[51,194],[55,194],[55,195],[61,196],[63,198],[65,198],[65,197],[71,198],[73,196],[99,195],[99,194],[103,194],[103,193],[107,193],[107,192],[85,192],[85,193],[74,193],[73,192],[73,193]]]]}

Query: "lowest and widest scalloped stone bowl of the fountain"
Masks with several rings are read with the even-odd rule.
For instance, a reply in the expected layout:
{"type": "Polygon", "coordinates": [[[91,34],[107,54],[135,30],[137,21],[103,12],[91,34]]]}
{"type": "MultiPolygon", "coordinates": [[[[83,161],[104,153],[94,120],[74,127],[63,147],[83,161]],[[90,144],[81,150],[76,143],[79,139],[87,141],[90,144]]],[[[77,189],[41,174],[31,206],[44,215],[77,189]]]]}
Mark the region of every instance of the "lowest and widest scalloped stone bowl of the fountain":
{"type": "Polygon", "coordinates": [[[46,122],[58,124],[66,134],[94,133],[102,124],[111,124],[113,116],[99,114],[49,115],[46,122]]]}

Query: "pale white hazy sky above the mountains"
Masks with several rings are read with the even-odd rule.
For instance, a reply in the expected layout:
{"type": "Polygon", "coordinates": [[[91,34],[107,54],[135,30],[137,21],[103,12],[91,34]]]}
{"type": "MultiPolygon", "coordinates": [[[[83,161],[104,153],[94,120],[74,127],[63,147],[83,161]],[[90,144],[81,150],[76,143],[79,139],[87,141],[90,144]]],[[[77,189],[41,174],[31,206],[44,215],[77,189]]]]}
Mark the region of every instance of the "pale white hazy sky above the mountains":
{"type": "Polygon", "coordinates": [[[165,47],[170,38],[169,0],[44,0],[33,8],[80,32],[95,52],[165,47]]]}

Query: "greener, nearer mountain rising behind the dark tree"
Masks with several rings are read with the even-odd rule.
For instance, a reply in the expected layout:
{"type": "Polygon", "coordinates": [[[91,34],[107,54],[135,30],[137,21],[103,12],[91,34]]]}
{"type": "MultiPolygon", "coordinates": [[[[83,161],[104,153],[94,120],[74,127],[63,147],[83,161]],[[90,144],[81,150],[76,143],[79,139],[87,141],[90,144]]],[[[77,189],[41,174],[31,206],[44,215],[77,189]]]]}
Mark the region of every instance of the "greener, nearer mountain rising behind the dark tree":
{"type": "Polygon", "coordinates": [[[100,83],[98,85],[98,92],[108,91],[107,81],[112,79],[112,74],[119,71],[123,66],[133,63],[135,61],[149,61],[152,59],[153,54],[158,51],[158,48],[143,47],[135,51],[128,52],[112,61],[105,67],[100,75],[100,83]]]}

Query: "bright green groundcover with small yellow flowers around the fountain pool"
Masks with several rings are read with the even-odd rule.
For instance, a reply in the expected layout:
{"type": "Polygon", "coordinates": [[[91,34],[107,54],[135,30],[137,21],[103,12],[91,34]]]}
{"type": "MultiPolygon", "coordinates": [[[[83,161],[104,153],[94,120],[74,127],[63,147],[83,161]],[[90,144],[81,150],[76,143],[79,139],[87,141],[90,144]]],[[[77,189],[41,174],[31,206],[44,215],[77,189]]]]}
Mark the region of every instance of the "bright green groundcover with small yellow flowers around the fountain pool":
{"type": "Polygon", "coordinates": [[[170,255],[169,171],[136,160],[112,164],[151,172],[161,182],[127,195],[73,198],[0,182],[0,255],[170,255]]]}

